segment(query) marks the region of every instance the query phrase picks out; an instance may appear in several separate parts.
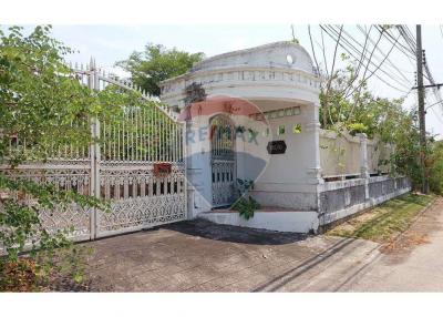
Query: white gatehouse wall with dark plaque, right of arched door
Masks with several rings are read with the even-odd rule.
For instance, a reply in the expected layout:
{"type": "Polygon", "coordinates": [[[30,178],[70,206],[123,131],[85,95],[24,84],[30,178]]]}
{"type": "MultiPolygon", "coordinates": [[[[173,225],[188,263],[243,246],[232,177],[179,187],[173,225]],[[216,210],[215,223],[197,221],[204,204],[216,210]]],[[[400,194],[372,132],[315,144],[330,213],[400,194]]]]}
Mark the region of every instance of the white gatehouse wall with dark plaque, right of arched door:
{"type": "MultiPolygon", "coordinates": [[[[313,104],[299,104],[285,101],[253,101],[265,113],[270,110],[298,106],[297,115],[268,119],[269,135],[258,137],[259,146],[244,143],[237,153],[249,153],[253,156],[267,155],[266,167],[258,177],[251,160],[237,160],[237,175],[255,180],[251,196],[262,206],[296,208],[298,211],[315,211],[318,207],[316,193],[316,129],[310,123],[316,122],[318,108],[313,104]],[[295,132],[295,126],[297,131],[295,132]],[[285,129],[285,133],[281,133],[285,129]],[[301,130],[300,130],[301,129],[301,130]],[[279,132],[280,131],[280,132],[279,132]],[[286,152],[268,154],[266,147],[269,141],[285,141],[286,152]]],[[[239,158],[239,155],[237,154],[239,158]]]]}

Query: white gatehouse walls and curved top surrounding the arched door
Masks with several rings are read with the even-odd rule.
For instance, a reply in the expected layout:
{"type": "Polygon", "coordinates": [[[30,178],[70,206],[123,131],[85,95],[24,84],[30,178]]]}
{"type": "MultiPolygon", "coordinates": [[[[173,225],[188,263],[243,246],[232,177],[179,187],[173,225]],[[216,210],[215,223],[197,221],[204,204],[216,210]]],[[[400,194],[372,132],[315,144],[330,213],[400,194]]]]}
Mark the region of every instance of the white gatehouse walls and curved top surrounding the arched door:
{"type": "MultiPolygon", "coordinates": [[[[318,136],[320,79],[313,73],[310,57],[303,48],[279,42],[208,59],[192,72],[164,81],[162,101],[172,106],[184,106],[184,90],[193,82],[203,84],[208,99],[231,96],[250,100],[262,110],[300,105],[300,115],[270,122],[270,136],[285,140],[287,144],[285,154],[268,155],[266,146],[270,136],[260,134],[258,145],[237,140],[236,149],[240,154],[237,155],[237,177],[254,180],[265,163],[267,167],[256,181],[256,190],[268,193],[264,197],[272,193],[316,195],[316,185],[321,182],[318,136]],[[288,54],[292,61],[288,60],[288,54]],[[297,123],[301,124],[300,134],[292,133],[292,126],[297,123]],[[277,136],[280,124],[285,124],[286,133],[277,136]]],[[[190,129],[208,125],[208,120],[200,116],[192,122],[190,129]]],[[[192,217],[210,208],[209,151],[209,143],[205,142],[188,146],[188,153],[192,153],[188,155],[192,217]]],[[[295,201],[295,197],[290,201],[295,201]]],[[[311,197],[307,208],[315,205],[311,197]]]]}

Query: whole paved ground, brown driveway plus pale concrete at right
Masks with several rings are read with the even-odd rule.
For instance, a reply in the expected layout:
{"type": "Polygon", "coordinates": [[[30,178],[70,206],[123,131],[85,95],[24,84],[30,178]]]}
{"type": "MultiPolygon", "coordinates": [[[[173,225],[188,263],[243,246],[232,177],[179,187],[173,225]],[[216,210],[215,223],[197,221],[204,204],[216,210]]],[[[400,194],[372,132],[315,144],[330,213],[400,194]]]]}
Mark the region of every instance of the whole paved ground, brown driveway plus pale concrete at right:
{"type": "Polygon", "coordinates": [[[116,292],[441,292],[442,229],[443,198],[391,250],[198,219],[89,243],[89,267],[93,289],[116,292]]]}

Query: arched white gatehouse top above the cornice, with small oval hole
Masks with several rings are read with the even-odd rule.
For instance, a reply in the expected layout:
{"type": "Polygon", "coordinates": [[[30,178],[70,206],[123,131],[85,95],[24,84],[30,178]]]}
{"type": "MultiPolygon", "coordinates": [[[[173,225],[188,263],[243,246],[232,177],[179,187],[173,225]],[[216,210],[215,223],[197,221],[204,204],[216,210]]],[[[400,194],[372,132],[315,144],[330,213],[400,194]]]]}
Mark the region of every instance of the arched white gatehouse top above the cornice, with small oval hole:
{"type": "Polygon", "coordinates": [[[300,44],[289,41],[215,55],[195,64],[190,72],[237,67],[285,68],[313,73],[309,53],[300,44]]]}

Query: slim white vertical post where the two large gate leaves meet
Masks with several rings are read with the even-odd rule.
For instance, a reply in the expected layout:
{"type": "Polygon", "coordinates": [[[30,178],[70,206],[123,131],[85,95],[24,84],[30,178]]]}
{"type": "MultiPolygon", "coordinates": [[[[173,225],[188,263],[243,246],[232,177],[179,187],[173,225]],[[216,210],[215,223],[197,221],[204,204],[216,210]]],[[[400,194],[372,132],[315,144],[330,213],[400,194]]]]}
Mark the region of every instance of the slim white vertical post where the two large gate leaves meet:
{"type": "MultiPolygon", "coordinates": [[[[89,74],[87,74],[87,86],[91,90],[99,90],[99,75],[95,69],[95,61],[91,59],[89,74]]],[[[100,121],[97,117],[91,120],[91,136],[92,142],[90,145],[90,160],[91,160],[91,187],[90,195],[92,197],[100,198],[100,144],[96,140],[100,137],[100,121]]],[[[91,239],[95,239],[97,236],[97,224],[99,213],[97,208],[92,208],[90,215],[90,234],[91,239]]]]}

